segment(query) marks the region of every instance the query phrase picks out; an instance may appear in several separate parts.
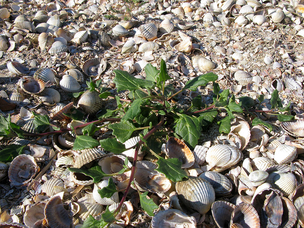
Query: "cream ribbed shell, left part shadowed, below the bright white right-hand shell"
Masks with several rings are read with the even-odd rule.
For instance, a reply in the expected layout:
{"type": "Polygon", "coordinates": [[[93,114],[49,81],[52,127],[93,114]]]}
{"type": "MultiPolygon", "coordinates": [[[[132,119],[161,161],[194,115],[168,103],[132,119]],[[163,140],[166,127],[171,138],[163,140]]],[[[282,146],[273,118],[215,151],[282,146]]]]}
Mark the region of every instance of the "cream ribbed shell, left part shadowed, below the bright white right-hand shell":
{"type": "Polygon", "coordinates": [[[281,171],[272,172],[269,174],[266,182],[271,184],[275,189],[283,193],[283,196],[288,197],[295,190],[296,178],[292,173],[284,173],[281,171]]]}

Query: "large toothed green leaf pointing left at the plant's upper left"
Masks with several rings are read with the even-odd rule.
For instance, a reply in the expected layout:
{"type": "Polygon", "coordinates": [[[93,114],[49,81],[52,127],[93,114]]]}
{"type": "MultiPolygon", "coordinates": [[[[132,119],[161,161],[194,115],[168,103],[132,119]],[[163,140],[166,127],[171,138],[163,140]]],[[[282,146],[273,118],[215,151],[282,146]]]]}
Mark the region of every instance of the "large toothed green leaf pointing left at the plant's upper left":
{"type": "Polygon", "coordinates": [[[116,84],[117,92],[122,90],[135,90],[139,88],[152,88],[155,84],[153,81],[135,78],[126,71],[114,70],[115,78],[113,82],[116,84]]]}

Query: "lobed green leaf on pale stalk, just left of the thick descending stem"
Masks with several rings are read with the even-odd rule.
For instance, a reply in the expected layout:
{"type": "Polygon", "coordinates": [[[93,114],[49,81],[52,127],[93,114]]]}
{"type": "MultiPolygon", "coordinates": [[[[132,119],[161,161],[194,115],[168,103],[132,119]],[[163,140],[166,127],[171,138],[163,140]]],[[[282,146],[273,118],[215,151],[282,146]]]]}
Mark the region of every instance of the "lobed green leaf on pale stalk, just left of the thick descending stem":
{"type": "Polygon", "coordinates": [[[124,143],[126,140],[130,139],[133,131],[136,130],[136,127],[130,120],[112,123],[108,127],[113,130],[113,135],[115,135],[121,143],[124,143]]]}

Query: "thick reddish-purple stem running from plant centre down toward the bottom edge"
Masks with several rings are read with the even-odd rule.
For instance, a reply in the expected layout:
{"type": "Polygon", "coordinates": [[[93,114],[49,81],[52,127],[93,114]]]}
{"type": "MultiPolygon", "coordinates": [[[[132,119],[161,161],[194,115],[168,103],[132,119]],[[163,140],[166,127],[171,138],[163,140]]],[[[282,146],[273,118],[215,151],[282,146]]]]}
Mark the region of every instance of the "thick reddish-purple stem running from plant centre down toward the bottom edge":
{"type": "MultiPolygon", "coordinates": [[[[158,128],[160,128],[160,126],[164,123],[164,116],[161,116],[161,121],[155,125],[145,136],[143,136],[143,139],[148,139],[154,132],[157,131],[158,128]]],[[[133,178],[134,178],[134,174],[135,174],[135,168],[136,168],[136,161],[137,161],[137,154],[138,154],[138,150],[140,148],[140,146],[143,144],[143,141],[140,140],[138,143],[137,143],[137,146],[135,148],[135,153],[134,153],[134,159],[133,159],[133,165],[132,165],[132,168],[131,168],[131,174],[130,174],[130,178],[129,178],[129,182],[128,182],[128,185],[126,187],[126,192],[123,194],[123,198],[121,199],[118,207],[115,209],[115,211],[113,212],[113,214],[115,214],[116,212],[118,212],[121,208],[121,206],[123,206],[123,202],[125,202],[125,199],[127,197],[127,194],[130,190],[130,187],[131,187],[131,182],[133,181],[133,178]]]]}

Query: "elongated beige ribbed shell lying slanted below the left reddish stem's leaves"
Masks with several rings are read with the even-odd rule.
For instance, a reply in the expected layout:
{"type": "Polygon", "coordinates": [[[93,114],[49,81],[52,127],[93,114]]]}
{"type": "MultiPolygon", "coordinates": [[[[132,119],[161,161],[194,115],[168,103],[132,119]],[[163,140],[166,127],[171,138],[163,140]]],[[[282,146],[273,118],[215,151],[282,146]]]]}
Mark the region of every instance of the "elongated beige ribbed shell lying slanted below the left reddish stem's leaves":
{"type": "Polygon", "coordinates": [[[81,150],[81,154],[77,157],[74,163],[74,168],[81,168],[85,164],[105,156],[106,153],[97,148],[81,150]]]}

